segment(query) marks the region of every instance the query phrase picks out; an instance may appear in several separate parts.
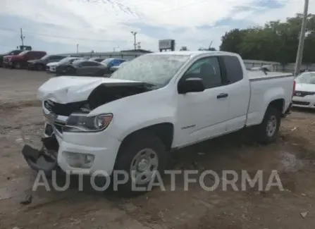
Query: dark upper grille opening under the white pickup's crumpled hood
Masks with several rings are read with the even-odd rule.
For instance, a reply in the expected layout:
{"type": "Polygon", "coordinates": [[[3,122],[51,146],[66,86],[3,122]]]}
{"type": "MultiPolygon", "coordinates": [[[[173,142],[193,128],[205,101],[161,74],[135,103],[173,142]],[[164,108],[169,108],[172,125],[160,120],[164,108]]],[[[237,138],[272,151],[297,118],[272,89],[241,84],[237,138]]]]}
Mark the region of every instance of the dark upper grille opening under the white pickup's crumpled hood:
{"type": "Polygon", "coordinates": [[[78,101],[68,104],[58,104],[54,101],[46,100],[44,101],[44,106],[48,111],[58,116],[70,116],[71,113],[80,111],[85,103],[86,101],[78,101]]]}

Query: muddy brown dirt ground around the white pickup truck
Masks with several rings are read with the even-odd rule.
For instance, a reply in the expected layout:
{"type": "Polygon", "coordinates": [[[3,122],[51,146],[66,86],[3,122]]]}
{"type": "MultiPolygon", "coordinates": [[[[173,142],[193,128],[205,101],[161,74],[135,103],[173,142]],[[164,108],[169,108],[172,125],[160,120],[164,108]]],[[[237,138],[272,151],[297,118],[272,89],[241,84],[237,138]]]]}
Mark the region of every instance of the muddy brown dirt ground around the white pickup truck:
{"type": "Polygon", "coordinates": [[[276,144],[262,146],[250,135],[233,135],[175,152],[171,168],[278,171],[284,191],[258,192],[219,187],[206,192],[198,184],[183,191],[183,179],[170,191],[159,188],[135,197],[85,190],[32,192],[35,175],[20,151],[39,146],[43,117],[37,88],[47,73],[0,68],[0,228],[314,228],[315,112],[298,110],[283,119],[276,144]],[[27,195],[32,203],[20,204],[27,195]],[[305,217],[301,213],[307,213],[305,217]]]}

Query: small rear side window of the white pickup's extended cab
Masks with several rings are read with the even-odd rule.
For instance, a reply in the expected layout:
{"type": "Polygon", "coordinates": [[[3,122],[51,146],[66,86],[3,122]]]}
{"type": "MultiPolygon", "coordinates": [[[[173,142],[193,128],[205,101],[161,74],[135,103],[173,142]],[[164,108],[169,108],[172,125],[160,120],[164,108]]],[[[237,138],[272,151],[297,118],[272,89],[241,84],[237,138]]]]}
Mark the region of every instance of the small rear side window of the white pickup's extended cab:
{"type": "Polygon", "coordinates": [[[242,80],[243,70],[240,60],[236,56],[222,56],[223,63],[226,66],[226,78],[228,83],[242,80]]]}

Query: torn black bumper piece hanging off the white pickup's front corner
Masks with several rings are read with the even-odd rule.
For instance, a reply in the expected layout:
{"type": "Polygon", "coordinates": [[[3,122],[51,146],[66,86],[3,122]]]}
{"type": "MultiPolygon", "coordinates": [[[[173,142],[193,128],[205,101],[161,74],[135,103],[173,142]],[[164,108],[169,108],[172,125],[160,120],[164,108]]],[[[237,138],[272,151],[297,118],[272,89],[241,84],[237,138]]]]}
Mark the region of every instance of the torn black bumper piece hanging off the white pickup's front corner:
{"type": "Polygon", "coordinates": [[[25,144],[22,149],[22,154],[27,164],[34,171],[44,171],[44,173],[50,173],[51,171],[58,169],[56,159],[58,142],[56,137],[45,137],[42,139],[42,142],[43,147],[40,150],[25,144]]]}

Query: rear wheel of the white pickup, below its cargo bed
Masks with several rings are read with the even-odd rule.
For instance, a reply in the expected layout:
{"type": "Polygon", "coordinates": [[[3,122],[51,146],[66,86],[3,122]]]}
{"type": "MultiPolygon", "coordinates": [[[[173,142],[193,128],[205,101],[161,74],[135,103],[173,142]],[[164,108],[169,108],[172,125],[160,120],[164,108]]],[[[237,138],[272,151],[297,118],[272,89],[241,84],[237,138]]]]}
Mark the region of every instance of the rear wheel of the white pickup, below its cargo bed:
{"type": "Polygon", "coordinates": [[[254,133],[257,141],[261,144],[276,142],[280,123],[280,111],[272,106],[269,106],[261,124],[254,128],[254,133]],[[268,127],[268,125],[271,125],[273,128],[268,127]]]}

